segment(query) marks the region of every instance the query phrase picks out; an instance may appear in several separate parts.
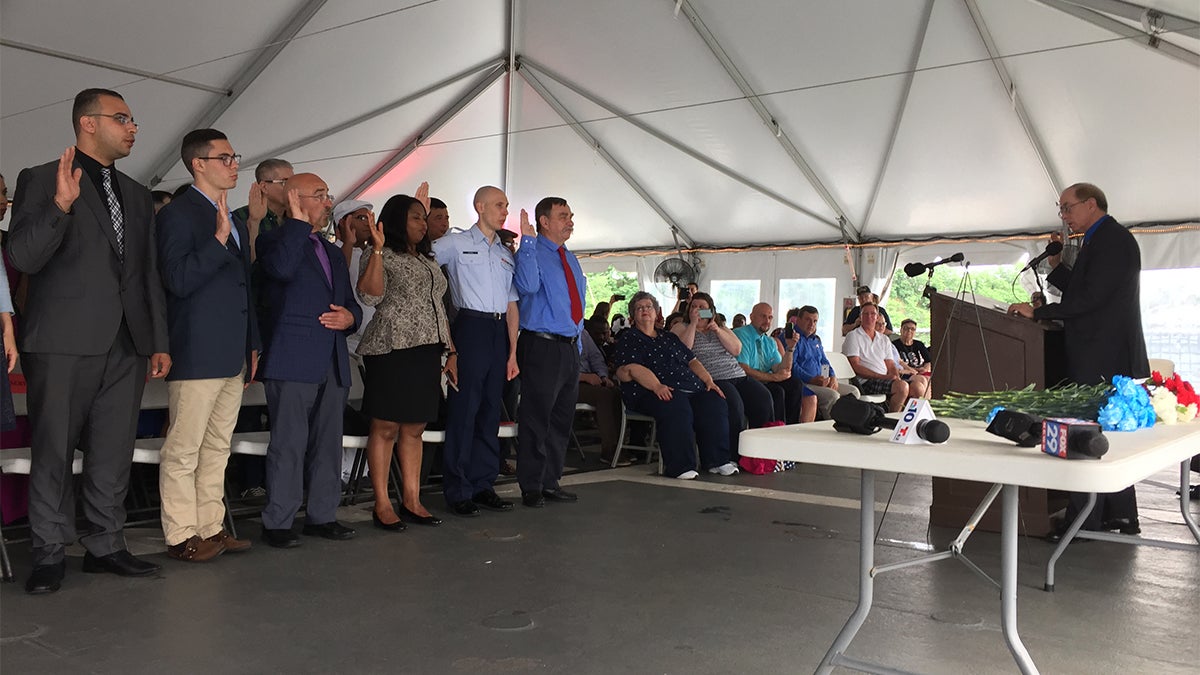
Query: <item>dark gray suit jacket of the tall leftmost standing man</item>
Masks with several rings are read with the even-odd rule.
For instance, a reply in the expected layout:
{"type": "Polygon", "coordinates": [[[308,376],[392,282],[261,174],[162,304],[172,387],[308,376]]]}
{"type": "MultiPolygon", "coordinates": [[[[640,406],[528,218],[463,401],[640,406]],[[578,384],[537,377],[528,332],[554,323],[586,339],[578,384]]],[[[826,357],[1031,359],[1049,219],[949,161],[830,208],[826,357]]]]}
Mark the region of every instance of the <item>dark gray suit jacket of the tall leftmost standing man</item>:
{"type": "Polygon", "coordinates": [[[125,201],[122,263],[108,205],[86,175],[70,214],[54,204],[58,165],[28,168],[17,178],[8,256],[29,275],[20,351],[102,354],[124,317],[137,353],[167,352],[150,191],[114,172],[125,201]]]}

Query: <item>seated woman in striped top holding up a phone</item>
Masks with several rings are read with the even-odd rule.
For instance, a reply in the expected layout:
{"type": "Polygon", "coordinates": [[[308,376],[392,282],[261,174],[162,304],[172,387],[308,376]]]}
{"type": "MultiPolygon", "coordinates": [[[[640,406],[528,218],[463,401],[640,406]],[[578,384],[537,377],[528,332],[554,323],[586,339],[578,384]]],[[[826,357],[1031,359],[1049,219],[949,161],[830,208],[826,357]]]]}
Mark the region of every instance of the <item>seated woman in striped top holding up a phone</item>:
{"type": "Polygon", "coordinates": [[[743,429],[766,426],[774,419],[770,392],[762,382],[748,377],[738,365],[742,340],[716,321],[713,297],[694,293],[688,304],[688,316],[672,328],[679,341],[691,350],[725,393],[730,408],[730,454],[738,460],[738,437],[743,429]]]}

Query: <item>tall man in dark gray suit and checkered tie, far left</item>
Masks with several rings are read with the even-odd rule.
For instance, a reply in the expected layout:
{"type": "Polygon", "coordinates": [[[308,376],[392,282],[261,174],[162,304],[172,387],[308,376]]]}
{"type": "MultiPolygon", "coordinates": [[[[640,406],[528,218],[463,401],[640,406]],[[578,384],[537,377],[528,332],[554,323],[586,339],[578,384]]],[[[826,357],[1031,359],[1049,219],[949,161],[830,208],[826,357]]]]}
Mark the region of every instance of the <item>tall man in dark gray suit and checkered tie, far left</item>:
{"type": "Polygon", "coordinates": [[[8,253],[29,275],[20,351],[32,434],[29,593],[59,590],[76,539],[71,462],[85,453],[84,572],[145,577],[125,548],[125,492],[146,358],[170,370],[150,192],[116,171],[138,131],[120,94],[74,100],[76,145],[17,179],[8,253]]]}

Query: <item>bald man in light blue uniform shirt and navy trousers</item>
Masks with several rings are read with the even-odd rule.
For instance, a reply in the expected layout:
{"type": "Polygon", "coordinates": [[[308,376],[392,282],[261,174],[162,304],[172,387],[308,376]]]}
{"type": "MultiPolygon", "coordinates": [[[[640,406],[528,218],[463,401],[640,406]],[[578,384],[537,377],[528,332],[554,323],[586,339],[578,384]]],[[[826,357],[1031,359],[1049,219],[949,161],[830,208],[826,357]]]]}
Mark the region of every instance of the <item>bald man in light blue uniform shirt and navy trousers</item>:
{"type": "Polygon", "coordinates": [[[450,333],[458,359],[458,389],[446,410],[442,490],[450,510],[479,515],[479,506],[510,510],[493,486],[500,470],[500,398],[504,382],[517,376],[517,292],[514,261],[500,237],[509,198],[490,185],[475,192],[479,220],[466,232],[433,243],[433,255],[450,277],[458,315],[450,333]],[[478,504],[478,506],[476,506],[478,504]]]}

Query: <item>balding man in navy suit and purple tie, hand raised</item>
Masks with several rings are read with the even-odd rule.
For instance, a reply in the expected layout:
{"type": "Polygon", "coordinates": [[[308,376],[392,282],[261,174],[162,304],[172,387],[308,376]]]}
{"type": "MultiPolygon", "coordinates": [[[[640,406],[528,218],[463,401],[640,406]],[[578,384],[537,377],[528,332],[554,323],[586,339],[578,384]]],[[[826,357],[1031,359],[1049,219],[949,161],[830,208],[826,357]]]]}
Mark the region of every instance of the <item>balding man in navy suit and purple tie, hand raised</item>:
{"type": "Polygon", "coordinates": [[[287,183],[288,217],[258,235],[266,285],[270,335],[260,376],[266,389],[271,442],[266,449],[263,540],[300,544],[292,521],[308,486],[304,533],[349,539],[337,522],[341,495],[342,412],[350,387],[347,335],[362,321],[342,252],[318,233],[334,201],[316,174],[287,183]]]}

